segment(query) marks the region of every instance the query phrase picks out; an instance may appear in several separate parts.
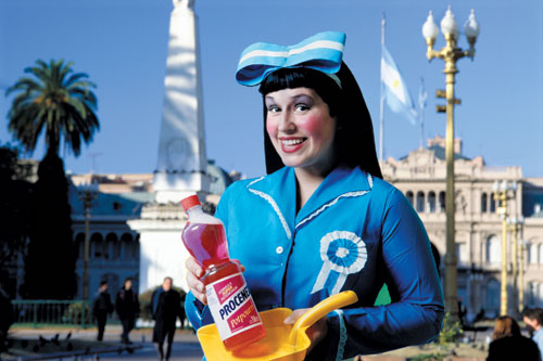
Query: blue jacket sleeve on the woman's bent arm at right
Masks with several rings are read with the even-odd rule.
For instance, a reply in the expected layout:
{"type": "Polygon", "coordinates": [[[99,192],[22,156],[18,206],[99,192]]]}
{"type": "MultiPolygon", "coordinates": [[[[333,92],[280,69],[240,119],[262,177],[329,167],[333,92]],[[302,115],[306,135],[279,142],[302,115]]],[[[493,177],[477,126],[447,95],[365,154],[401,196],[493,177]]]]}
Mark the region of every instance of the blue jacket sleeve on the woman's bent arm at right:
{"type": "Polygon", "coordinates": [[[381,242],[392,302],[330,313],[328,335],[312,352],[319,356],[312,359],[342,360],[420,345],[439,335],[444,302],[430,242],[412,205],[396,189],[387,196],[381,242]]]}

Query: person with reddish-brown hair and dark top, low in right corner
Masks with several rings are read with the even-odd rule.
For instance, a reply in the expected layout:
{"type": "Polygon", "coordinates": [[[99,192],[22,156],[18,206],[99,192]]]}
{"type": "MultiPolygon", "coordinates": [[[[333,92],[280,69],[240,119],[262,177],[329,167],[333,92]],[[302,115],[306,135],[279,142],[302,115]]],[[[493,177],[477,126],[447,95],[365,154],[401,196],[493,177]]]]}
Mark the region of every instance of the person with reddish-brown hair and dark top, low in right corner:
{"type": "Polygon", "coordinates": [[[517,321],[510,315],[496,319],[492,338],[487,361],[541,361],[538,345],[520,334],[517,321]]]}

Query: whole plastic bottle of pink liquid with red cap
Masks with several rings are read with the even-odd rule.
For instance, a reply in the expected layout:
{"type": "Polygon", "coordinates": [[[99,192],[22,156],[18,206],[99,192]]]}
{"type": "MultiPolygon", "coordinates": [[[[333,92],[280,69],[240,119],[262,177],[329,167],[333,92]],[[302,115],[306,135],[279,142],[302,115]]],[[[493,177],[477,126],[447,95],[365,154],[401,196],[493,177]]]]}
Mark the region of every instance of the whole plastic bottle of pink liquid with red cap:
{"type": "Polygon", "coordinates": [[[236,350],[266,335],[240,266],[230,260],[223,222],[204,214],[197,195],[181,201],[189,216],[181,238],[204,270],[207,306],[227,350],[236,350]]]}

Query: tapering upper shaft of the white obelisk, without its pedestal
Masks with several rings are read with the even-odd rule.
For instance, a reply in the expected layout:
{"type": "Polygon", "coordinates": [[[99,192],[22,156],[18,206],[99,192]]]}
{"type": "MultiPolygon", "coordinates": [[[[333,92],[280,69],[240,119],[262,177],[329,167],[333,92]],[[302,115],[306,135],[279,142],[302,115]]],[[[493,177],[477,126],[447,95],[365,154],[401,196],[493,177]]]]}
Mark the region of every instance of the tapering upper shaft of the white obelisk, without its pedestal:
{"type": "Polygon", "coordinates": [[[193,1],[174,0],[159,162],[153,183],[159,203],[178,203],[187,195],[206,192],[210,188],[205,176],[207,159],[199,60],[193,1]]]}

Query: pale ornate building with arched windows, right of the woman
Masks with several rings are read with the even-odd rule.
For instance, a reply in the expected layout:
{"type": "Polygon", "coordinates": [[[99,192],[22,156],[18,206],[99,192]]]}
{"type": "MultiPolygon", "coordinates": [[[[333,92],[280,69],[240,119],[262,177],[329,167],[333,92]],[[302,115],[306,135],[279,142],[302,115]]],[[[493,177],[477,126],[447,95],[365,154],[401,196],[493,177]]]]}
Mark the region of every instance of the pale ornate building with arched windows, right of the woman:
{"type": "MultiPolygon", "coordinates": [[[[517,182],[515,198],[508,202],[510,217],[523,217],[518,233],[520,260],[523,260],[525,305],[543,306],[543,178],[523,178],[520,167],[487,166],[481,156],[462,155],[455,142],[455,222],[458,260],[458,299],[468,319],[481,309],[487,317],[500,312],[502,270],[502,218],[493,195],[495,181],[517,182]],[[522,250],[522,252],[521,252],[522,250]]],[[[401,159],[381,164],[386,180],[412,202],[426,225],[430,241],[441,255],[441,276],[445,255],[445,152],[444,139],[428,141],[428,147],[411,152],[401,159]]],[[[513,236],[508,232],[508,289],[513,307],[513,236]]],[[[520,267],[520,266],[519,266],[520,267]]],[[[509,313],[513,313],[510,309],[509,313]]]]}

